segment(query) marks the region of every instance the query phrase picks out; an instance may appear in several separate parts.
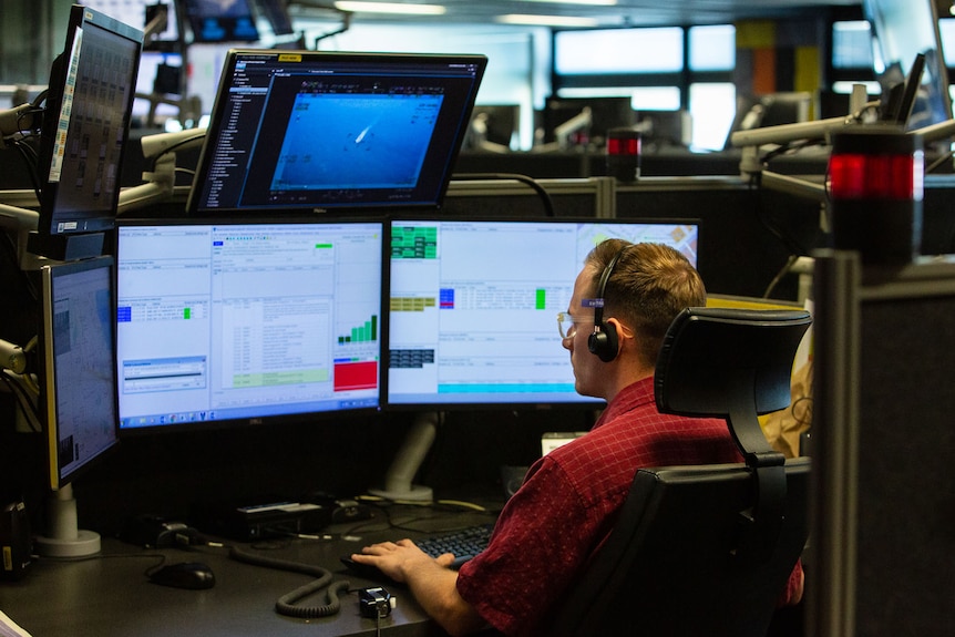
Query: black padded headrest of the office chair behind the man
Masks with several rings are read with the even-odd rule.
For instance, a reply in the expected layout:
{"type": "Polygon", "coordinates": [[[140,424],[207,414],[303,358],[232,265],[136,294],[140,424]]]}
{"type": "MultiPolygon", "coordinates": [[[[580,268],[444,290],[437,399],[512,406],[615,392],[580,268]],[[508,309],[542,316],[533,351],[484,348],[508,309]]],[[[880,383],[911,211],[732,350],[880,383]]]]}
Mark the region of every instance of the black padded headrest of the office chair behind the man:
{"type": "Polygon", "coordinates": [[[687,308],[657,358],[657,408],[729,418],[740,400],[754,414],[787,407],[795,350],[811,322],[805,310],[687,308]]]}

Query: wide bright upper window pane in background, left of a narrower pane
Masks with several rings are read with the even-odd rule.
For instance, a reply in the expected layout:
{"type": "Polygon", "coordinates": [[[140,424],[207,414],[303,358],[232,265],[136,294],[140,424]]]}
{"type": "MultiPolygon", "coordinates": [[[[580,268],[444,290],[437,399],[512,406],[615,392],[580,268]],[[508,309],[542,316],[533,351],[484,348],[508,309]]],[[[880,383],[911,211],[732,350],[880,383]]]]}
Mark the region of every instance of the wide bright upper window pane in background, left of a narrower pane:
{"type": "Polygon", "coordinates": [[[598,29],[554,37],[557,74],[672,73],[684,68],[684,30],[598,29]]]}

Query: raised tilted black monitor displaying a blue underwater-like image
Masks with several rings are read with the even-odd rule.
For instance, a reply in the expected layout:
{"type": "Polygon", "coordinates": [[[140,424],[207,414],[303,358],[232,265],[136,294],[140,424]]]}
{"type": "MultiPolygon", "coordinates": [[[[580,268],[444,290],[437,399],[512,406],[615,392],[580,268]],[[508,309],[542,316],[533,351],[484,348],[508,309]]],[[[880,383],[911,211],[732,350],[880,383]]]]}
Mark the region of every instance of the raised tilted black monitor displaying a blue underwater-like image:
{"type": "Polygon", "coordinates": [[[486,62],[229,51],[189,214],[438,208],[486,62]]]}

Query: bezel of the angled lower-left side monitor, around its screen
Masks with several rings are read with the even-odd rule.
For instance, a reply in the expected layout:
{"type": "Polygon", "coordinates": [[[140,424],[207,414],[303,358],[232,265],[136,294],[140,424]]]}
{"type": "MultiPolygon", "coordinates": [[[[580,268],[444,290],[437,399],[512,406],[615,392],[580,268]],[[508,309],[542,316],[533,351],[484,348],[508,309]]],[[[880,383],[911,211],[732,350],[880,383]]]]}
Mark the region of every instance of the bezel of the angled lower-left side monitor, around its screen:
{"type": "Polygon", "coordinates": [[[60,413],[58,409],[58,371],[55,364],[55,351],[53,347],[53,301],[55,279],[62,276],[70,276],[83,271],[105,269],[110,289],[110,311],[115,308],[116,288],[115,288],[115,261],[112,256],[101,256],[91,259],[82,259],[76,261],[63,261],[57,264],[45,264],[40,268],[41,281],[41,309],[40,309],[40,360],[42,361],[43,370],[41,378],[40,400],[40,418],[43,423],[43,433],[45,438],[45,458],[48,470],[48,485],[53,491],[59,491],[71,484],[76,477],[83,475],[91,468],[97,465],[103,458],[112,454],[120,445],[120,435],[117,429],[119,415],[119,399],[116,394],[116,330],[115,322],[111,319],[107,321],[110,329],[111,342],[111,366],[110,371],[113,373],[111,401],[113,407],[113,438],[110,443],[100,449],[94,455],[89,456],[82,464],[64,471],[60,455],[60,413]]]}

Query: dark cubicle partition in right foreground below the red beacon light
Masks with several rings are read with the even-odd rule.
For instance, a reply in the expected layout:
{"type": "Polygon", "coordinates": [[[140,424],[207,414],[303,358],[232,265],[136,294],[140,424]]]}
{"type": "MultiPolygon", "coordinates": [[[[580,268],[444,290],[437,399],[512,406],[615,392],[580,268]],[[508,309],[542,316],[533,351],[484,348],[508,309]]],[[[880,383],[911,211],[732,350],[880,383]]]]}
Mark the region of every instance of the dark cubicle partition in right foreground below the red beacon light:
{"type": "Polygon", "coordinates": [[[814,276],[807,635],[942,635],[955,621],[955,263],[814,276]]]}

